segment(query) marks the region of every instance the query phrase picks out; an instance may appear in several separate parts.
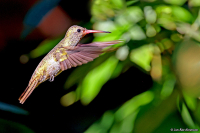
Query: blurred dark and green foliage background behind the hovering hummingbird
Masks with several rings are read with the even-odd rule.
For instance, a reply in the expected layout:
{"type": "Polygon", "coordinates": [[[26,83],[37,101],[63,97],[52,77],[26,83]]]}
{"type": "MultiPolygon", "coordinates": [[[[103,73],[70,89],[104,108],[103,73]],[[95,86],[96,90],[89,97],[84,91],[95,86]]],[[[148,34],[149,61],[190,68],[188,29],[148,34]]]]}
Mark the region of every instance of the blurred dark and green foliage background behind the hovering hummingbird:
{"type": "MultiPolygon", "coordinates": [[[[0,132],[168,133],[200,125],[199,0],[1,0],[0,132]],[[71,25],[119,49],[39,85],[42,58],[71,25]]],[[[196,131],[198,132],[198,131],[196,131]]]]}

